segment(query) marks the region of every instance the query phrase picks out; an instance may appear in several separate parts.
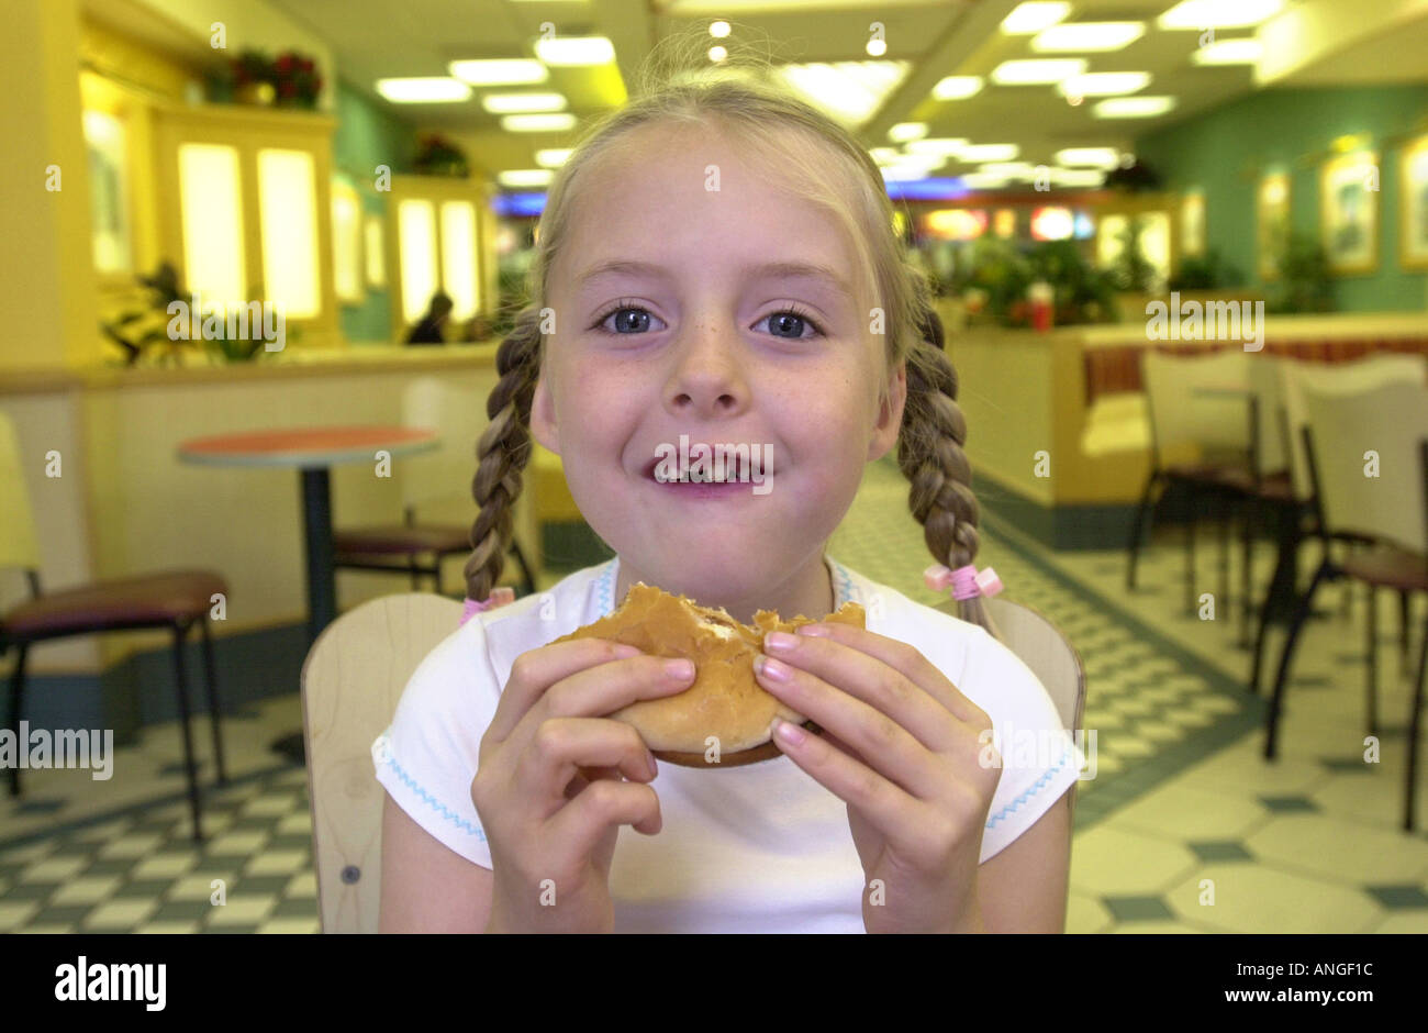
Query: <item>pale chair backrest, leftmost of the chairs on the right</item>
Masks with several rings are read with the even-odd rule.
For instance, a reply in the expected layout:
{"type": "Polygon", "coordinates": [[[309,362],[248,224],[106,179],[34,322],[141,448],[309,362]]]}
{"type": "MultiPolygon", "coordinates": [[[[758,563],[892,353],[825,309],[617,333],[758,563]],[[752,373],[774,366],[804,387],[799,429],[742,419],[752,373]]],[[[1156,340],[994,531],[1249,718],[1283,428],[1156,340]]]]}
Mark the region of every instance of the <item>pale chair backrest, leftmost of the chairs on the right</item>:
{"type": "Polygon", "coordinates": [[[1154,349],[1141,353],[1141,379],[1151,416],[1151,437],[1160,466],[1174,450],[1250,449],[1245,394],[1211,397],[1200,387],[1250,389],[1250,356],[1232,347],[1207,356],[1171,356],[1154,349]]]}

